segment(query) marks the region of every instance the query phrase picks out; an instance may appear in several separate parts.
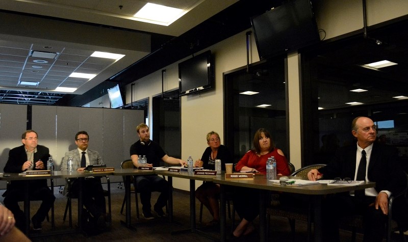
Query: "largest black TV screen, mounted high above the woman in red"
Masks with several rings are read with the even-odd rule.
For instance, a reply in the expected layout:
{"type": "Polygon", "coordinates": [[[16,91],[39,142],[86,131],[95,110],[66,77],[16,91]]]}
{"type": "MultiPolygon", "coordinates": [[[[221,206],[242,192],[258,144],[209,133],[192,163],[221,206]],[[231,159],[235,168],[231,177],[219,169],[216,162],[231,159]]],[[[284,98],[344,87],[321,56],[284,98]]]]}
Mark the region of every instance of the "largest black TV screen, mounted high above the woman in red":
{"type": "Polygon", "coordinates": [[[251,23],[261,60],[320,41],[310,0],[289,0],[251,23]]]}

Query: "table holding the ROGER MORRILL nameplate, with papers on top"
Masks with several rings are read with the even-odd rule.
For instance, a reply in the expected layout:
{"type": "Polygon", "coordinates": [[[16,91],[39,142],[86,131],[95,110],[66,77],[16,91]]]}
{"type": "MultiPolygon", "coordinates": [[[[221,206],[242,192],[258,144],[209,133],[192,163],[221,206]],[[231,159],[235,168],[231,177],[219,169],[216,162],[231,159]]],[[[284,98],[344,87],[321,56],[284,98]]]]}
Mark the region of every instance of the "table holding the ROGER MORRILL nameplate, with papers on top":
{"type": "MultiPolygon", "coordinates": [[[[299,177],[291,177],[299,179],[299,177]]],[[[375,182],[364,182],[358,186],[328,186],[327,184],[314,184],[304,186],[281,186],[272,185],[273,182],[265,179],[265,176],[255,176],[253,179],[225,179],[224,176],[216,177],[213,182],[220,184],[220,236],[221,241],[225,241],[225,185],[250,187],[260,191],[259,205],[260,205],[260,240],[266,241],[266,204],[268,199],[268,192],[285,192],[304,194],[312,196],[312,203],[314,204],[315,214],[315,241],[322,241],[322,219],[321,219],[321,200],[323,195],[349,192],[353,190],[362,190],[375,186],[375,182]]]]}

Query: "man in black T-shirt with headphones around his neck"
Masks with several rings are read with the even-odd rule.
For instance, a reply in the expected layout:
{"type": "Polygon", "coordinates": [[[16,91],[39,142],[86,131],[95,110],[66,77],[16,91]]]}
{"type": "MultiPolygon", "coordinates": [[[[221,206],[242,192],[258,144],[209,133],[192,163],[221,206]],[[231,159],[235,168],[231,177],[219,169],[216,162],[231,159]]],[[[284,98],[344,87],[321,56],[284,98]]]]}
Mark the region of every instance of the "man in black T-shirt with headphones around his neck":
{"type": "MultiPolygon", "coordinates": [[[[138,167],[139,155],[145,155],[147,157],[146,166],[149,167],[159,167],[160,160],[163,162],[182,166],[186,162],[182,159],[177,159],[168,156],[159,144],[150,140],[149,127],[141,123],[136,127],[137,134],[140,138],[135,142],[130,148],[130,155],[135,167],[138,167]]],[[[136,187],[138,192],[140,192],[140,202],[142,203],[143,216],[145,219],[154,219],[151,214],[151,192],[160,192],[159,198],[154,206],[154,210],[158,216],[164,217],[166,214],[163,212],[163,207],[167,203],[168,199],[168,182],[159,177],[158,175],[148,175],[148,176],[135,176],[136,187]]]]}

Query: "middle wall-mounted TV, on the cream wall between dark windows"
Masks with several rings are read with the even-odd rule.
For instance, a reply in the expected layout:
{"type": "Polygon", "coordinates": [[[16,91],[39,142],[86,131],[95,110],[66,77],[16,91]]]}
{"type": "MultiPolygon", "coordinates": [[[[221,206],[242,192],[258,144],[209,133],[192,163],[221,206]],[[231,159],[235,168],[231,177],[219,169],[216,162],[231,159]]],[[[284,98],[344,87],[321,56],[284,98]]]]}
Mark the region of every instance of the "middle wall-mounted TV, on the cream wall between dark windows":
{"type": "Polygon", "coordinates": [[[211,50],[179,63],[179,95],[190,95],[214,87],[211,50]]]}

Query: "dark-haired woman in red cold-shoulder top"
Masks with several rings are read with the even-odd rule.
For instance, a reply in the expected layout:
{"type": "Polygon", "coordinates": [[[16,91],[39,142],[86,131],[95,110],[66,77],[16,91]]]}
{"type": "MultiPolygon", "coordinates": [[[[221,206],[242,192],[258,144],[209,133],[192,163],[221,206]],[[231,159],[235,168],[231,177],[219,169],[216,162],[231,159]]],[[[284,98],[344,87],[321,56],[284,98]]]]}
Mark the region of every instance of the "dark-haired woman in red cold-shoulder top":
{"type": "MultiPolygon", "coordinates": [[[[268,130],[260,128],[253,137],[253,148],[245,153],[235,166],[238,172],[257,171],[266,174],[266,160],[274,156],[276,159],[277,175],[289,175],[289,166],[282,150],[275,147],[268,130]]],[[[254,199],[258,199],[258,191],[240,187],[234,193],[234,206],[242,221],[234,230],[233,235],[239,237],[247,235],[255,229],[251,224],[259,214],[259,206],[254,205],[254,199]],[[244,195],[244,196],[243,196],[244,195]]]]}

